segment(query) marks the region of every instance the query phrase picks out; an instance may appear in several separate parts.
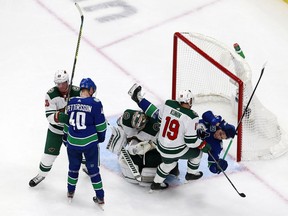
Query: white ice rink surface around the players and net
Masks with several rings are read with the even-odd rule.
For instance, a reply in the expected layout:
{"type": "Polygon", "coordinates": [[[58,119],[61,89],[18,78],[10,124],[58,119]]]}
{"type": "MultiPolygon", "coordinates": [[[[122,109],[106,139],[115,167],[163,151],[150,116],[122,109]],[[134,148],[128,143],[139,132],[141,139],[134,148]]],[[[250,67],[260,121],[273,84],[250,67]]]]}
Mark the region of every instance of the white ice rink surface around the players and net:
{"type": "MultiPolygon", "coordinates": [[[[108,0],[78,1],[82,9],[108,0]]],[[[125,7],[84,10],[83,37],[74,84],[95,80],[108,119],[136,108],[127,91],[139,82],[149,98],[160,104],[171,95],[172,41],[177,31],[191,31],[231,45],[246,54],[256,83],[268,61],[257,96],[288,131],[288,4],[282,0],[115,0],[125,7]],[[99,17],[126,17],[100,22],[99,17]]],[[[261,215],[288,213],[288,155],[267,161],[230,161],[227,175],[208,175],[198,181],[149,194],[149,189],[126,182],[115,157],[104,153],[101,174],[105,211],[92,202],[94,192],[81,173],[72,204],[66,200],[65,148],[48,177],[37,187],[47,121],[44,96],[58,69],[72,71],[80,16],[72,0],[0,1],[0,131],[1,215],[261,215]],[[233,167],[236,167],[233,169],[233,167]],[[239,169],[238,169],[238,168],[239,169]]],[[[101,144],[105,152],[106,143],[101,144]]],[[[230,151],[231,157],[235,150],[230,151]]],[[[205,166],[203,166],[203,169],[205,166]]],[[[182,178],[185,170],[180,170],[182,178]]],[[[180,176],[181,177],[181,176],[180,176]]]]}

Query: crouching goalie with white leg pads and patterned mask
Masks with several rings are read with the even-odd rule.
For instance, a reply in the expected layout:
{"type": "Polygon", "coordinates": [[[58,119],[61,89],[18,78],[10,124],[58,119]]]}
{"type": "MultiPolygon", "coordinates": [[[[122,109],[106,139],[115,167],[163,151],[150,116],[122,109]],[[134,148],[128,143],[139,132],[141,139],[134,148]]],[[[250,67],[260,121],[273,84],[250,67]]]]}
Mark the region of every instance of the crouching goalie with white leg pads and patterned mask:
{"type": "MultiPolygon", "coordinates": [[[[127,181],[143,186],[153,182],[162,162],[155,145],[159,127],[157,120],[132,109],[125,110],[117,127],[112,127],[107,149],[119,156],[118,163],[127,181]]],[[[170,174],[178,176],[178,166],[170,174]]]]}

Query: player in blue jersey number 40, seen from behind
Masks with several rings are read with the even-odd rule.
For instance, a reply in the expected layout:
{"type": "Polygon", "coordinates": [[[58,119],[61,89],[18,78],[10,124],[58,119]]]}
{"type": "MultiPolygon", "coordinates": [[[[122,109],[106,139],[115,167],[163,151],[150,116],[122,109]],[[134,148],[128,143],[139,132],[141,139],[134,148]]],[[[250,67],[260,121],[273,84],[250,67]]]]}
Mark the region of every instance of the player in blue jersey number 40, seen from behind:
{"type": "Polygon", "coordinates": [[[93,97],[96,85],[90,78],[80,82],[80,97],[71,98],[67,106],[69,125],[67,133],[67,154],[69,160],[67,197],[72,199],[76,189],[82,154],[96,196],[93,201],[104,204],[104,190],[99,170],[99,143],[104,142],[107,129],[102,103],[93,97]]]}

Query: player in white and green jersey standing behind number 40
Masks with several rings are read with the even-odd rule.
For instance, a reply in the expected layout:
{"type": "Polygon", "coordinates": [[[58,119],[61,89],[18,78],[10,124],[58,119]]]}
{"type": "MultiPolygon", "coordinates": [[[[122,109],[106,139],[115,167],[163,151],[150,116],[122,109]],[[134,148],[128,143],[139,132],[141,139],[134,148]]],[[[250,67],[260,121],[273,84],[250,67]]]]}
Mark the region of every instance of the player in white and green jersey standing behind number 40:
{"type": "MultiPolygon", "coordinates": [[[[69,89],[69,74],[65,70],[58,70],[54,75],[55,86],[45,96],[45,113],[49,122],[47,130],[44,154],[42,155],[38,174],[29,181],[31,187],[35,187],[45,179],[51,170],[53,163],[60,153],[63,138],[65,119],[64,110],[67,105],[69,89]]],[[[80,89],[72,86],[70,96],[79,96],[80,89]]]]}

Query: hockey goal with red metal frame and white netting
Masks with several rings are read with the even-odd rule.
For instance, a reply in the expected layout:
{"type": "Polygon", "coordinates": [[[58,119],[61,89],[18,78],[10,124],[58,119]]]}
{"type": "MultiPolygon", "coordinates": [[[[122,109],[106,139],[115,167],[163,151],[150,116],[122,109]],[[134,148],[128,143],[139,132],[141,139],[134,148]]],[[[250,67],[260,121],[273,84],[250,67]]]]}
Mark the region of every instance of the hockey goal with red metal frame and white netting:
{"type": "MultiPolygon", "coordinates": [[[[197,33],[174,34],[172,98],[194,94],[193,109],[207,110],[237,127],[253,92],[248,63],[221,42],[197,33]]],[[[226,141],[227,142],[227,141],[226,141]]],[[[254,94],[232,146],[237,161],[278,157],[288,151],[287,134],[254,94]]]]}

